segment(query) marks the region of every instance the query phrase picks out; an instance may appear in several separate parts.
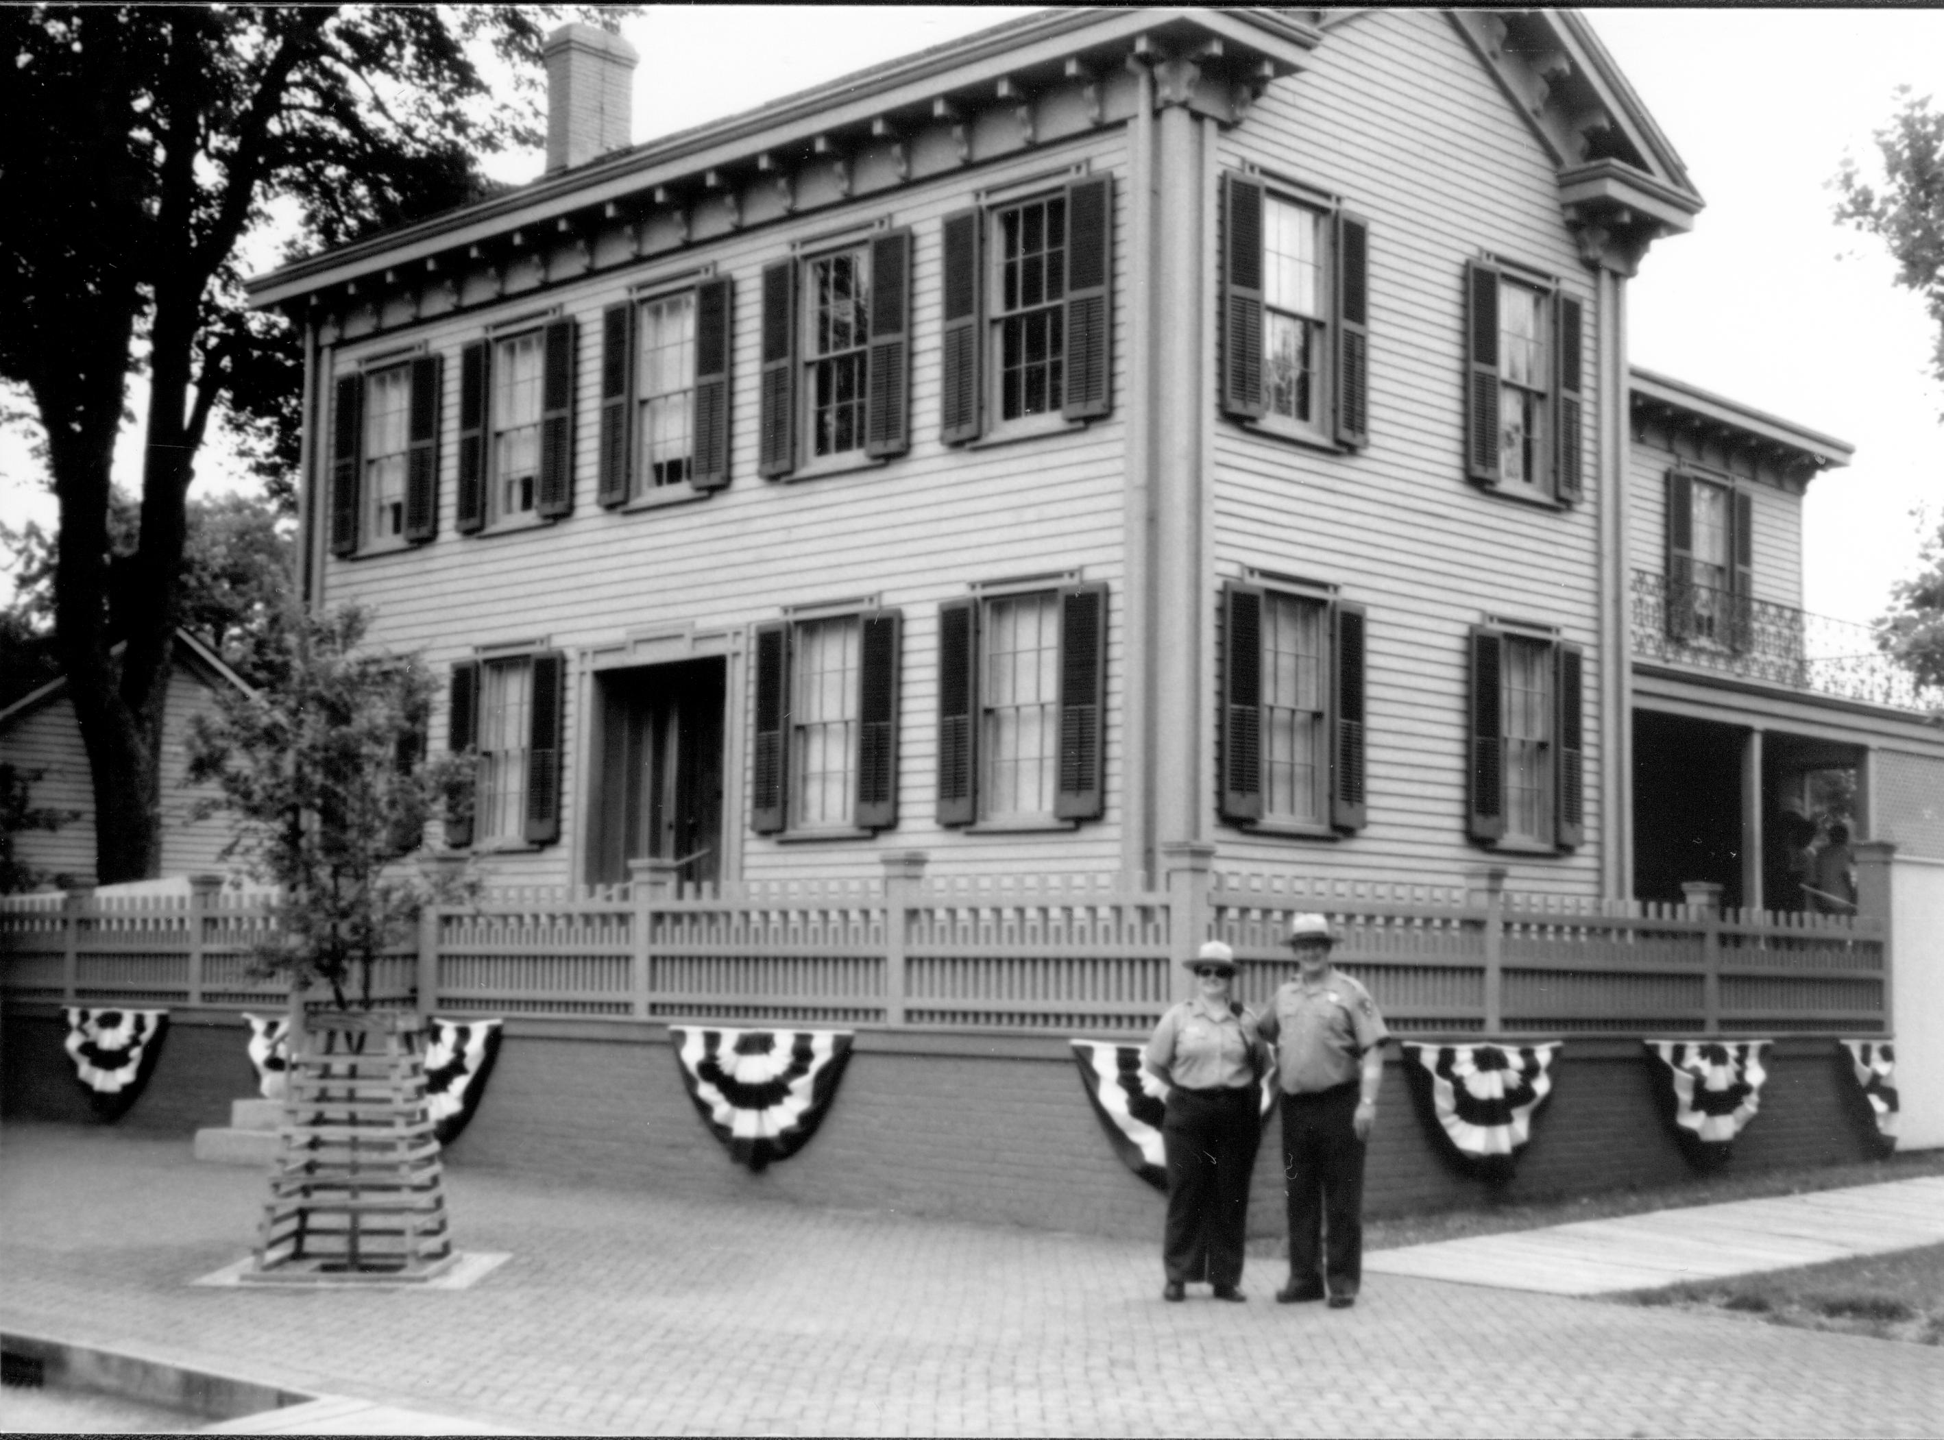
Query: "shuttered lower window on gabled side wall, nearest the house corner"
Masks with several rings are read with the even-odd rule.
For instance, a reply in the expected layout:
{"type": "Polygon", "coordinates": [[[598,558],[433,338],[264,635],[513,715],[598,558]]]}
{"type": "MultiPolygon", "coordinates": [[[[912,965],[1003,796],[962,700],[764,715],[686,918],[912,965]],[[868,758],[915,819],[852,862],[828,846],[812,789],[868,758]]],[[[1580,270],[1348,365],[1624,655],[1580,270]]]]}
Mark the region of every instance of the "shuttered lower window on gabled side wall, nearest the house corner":
{"type": "Polygon", "coordinates": [[[1365,610],[1328,591],[1223,595],[1221,812],[1266,832],[1365,824],[1365,610]]]}

